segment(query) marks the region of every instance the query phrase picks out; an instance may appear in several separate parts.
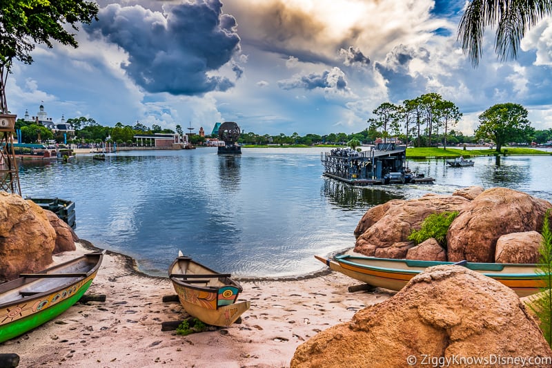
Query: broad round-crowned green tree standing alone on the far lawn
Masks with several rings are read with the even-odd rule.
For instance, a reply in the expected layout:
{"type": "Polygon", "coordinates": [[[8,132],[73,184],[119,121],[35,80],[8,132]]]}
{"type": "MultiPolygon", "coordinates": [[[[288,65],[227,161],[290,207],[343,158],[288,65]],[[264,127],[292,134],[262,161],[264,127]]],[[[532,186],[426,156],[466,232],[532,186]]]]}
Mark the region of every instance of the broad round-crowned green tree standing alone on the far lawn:
{"type": "Polygon", "coordinates": [[[493,139],[496,151],[504,144],[519,141],[531,130],[527,110],[520,104],[496,104],[479,115],[480,126],[475,130],[477,139],[493,139]]]}

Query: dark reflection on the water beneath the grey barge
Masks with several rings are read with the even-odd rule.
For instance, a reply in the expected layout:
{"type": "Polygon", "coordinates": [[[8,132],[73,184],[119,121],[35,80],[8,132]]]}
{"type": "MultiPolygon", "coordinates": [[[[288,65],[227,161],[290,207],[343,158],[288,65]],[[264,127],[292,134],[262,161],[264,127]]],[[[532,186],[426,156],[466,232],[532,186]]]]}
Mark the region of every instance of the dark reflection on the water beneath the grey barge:
{"type": "Polygon", "coordinates": [[[382,186],[359,188],[328,178],[324,179],[322,191],[331,204],[349,210],[357,210],[359,207],[370,208],[390,200],[404,199],[404,195],[386,191],[382,186]]]}

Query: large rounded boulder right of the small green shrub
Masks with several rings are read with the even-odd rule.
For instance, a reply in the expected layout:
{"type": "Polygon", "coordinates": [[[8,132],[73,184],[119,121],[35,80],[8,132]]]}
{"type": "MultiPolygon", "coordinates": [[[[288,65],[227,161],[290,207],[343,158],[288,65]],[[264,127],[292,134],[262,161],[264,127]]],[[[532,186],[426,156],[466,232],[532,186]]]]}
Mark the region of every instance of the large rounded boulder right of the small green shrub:
{"type": "Polygon", "coordinates": [[[509,188],[490,188],[468,202],[446,235],[449,261],[494,262],[498,238],[541,231],[552,204],[509,188]]]}

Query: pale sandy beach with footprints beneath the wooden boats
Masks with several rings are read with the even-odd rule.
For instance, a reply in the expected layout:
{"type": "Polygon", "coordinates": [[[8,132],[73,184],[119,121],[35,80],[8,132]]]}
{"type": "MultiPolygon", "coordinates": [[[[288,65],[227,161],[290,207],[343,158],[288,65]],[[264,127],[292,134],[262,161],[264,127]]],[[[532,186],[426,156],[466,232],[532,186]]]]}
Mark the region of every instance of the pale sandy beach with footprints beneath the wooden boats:
{"type": "MultiPolygon", "coordinates": [[[[55,263],[90,249],[55,255],[55,263]]],[[[367,305],[390,294],[357,291],[356,280],[320,272],[286,280],[239,280],[240,300],[251,308],[242,323],[179,336],[161,331],[161,322],[188,315],[168,278],[144,275],[132,259],[108,252],[87,294],[106,302],[77,303],[45,325],[0,345],[0,353],[19,354],[19,367],[288,367],[295,349],[308,338],[348,321],[367,305]]]]}

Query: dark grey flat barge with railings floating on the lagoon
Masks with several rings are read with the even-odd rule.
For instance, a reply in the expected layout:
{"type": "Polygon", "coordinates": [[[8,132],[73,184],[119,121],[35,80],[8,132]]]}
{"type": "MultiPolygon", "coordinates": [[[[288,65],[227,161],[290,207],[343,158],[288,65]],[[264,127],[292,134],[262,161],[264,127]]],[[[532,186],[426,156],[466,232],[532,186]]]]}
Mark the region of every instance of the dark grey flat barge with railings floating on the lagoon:
{"type": "Polygon", "coordinates": [[[406,168],[406,146],[378,144],[370,151],[336,148],[323,152],[324,176],[351,185],[433,184],[433,177],[406,168]]]}

